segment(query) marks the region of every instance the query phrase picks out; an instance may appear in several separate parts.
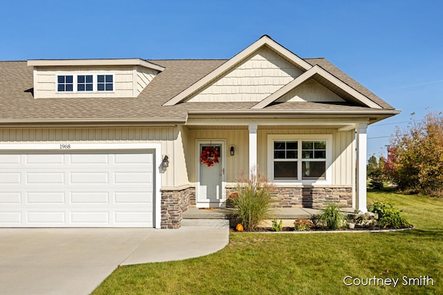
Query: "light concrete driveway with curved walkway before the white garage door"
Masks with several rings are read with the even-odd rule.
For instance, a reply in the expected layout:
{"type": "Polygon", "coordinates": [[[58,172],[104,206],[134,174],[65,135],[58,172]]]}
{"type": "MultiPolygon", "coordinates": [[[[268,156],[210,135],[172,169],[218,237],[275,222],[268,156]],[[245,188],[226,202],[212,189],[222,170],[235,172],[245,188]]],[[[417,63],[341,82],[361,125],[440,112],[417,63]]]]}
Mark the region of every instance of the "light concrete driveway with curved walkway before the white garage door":
{"type": "Polygon", "coordinates": [[[118,265],[198,257],[227,244],[227,227],[0,229],[0,294],[89,294],[118,265]]]}

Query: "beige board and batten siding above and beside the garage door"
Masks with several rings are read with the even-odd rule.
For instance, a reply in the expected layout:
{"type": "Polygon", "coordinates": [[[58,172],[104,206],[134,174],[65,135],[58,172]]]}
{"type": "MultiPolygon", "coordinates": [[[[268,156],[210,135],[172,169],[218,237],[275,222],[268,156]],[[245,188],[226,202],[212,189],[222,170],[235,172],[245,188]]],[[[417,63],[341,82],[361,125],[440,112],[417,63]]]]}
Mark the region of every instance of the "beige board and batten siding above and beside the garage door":
{"type": "MultiPolygon", "coordinates": [[[[10,128],[0,129],[0,144],[124,144],[161,143],[161,158],[170,166],[161,174],[162,187],[188,184],[179,129],[174,127],[121,128],[10,128]],[[177,160],[177,164],[174,162],[177,160]],[[177,167],[177,169],[174,169],[177,167]]],[[[160,163],[156,163],[158,169],[160,163]]]]}

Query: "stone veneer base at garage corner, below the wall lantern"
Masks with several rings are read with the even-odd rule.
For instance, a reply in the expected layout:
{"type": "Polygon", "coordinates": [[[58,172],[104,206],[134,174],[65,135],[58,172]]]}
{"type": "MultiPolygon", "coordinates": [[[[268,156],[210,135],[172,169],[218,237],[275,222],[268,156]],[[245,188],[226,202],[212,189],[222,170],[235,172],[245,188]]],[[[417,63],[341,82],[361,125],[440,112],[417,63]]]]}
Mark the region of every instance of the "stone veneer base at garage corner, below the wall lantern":
{"type": "Polygon", "coordinates": [[[195,188],[161,192],[161,228],[179,229],[182,213],[190,207],[190,200],[195,203],[195,188]]]}

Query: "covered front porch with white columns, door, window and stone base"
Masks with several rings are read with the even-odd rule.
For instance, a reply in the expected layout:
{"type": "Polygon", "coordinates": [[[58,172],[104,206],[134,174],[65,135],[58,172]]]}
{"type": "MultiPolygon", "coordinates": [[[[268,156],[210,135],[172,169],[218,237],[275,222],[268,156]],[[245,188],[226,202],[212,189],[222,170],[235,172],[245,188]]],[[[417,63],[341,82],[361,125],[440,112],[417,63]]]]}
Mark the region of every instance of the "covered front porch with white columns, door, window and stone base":
{"type": "Polygon", "coordinates": [[[276,208],[320,209],[338,203],[366,212],[366,127],[367,122],[355,119],[189,118],[183,126],[183,146],[195,189],[190,207],[226,207],[242,174],[259,173],[275,185],[276,208]],[[286,148],[277,147],[281,143],[286,148]],[[209,167],[200,161],[206,146],[219,151],[219,162],[209,167]],[[282,157],[282,152],[288,156],[282,157]],[[282,175],[291,164],[295,174],[282,175]],[[316,175],[316,166],[325,168],[316,175]],[[283,172],[277,173],[280,167],[283,172]]]}

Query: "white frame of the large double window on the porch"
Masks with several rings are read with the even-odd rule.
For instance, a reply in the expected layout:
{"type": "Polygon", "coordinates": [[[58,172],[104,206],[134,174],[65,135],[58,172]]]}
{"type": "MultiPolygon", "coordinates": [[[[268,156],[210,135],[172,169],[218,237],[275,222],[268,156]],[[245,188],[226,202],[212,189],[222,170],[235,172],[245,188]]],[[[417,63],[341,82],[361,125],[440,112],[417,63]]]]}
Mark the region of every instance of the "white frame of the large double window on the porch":
{"type": "Polygon", "coordinates": [[[279,184],[299,184],[299,185],[331,185],[332,184],[332,135],[331,134],[271,134],[268,135],[268,152],[267,152],[267,171],[269,181],[279,184]],[[298,157],[297,161],[297,179],[274,179],[274,142],[275,141],[297,141],[298,157]],[[325,178],[302,179],[302,141],[325,141],[326,142],[326,173],[325,178]]]}

